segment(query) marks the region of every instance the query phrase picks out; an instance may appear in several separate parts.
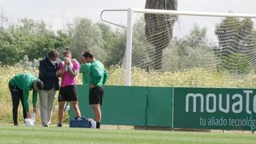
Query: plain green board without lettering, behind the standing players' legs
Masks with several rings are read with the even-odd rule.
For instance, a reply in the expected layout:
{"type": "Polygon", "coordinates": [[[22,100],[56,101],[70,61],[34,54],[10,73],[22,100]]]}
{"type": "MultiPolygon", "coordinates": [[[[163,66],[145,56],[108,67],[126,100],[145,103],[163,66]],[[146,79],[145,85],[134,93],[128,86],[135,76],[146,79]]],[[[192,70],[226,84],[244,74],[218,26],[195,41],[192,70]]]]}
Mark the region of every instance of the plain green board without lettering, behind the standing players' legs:
{"type": "MultiPolygon", "coordinates": [[[[81,114],[94,118],[89,106],[89,86],[78,85],[81,114]]],[[[164,126],[173,128],[173,88],[148,86],[104,86],[101,106],[103,125],[164,126]]],[[[74,118],[70,106],[70,119],[74,118]]]]}

